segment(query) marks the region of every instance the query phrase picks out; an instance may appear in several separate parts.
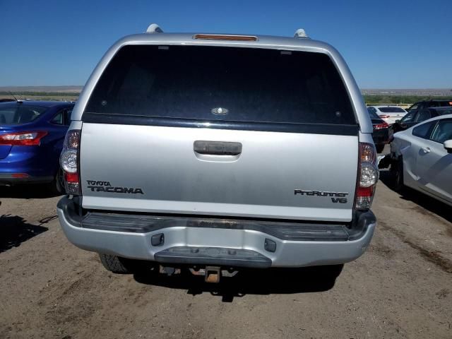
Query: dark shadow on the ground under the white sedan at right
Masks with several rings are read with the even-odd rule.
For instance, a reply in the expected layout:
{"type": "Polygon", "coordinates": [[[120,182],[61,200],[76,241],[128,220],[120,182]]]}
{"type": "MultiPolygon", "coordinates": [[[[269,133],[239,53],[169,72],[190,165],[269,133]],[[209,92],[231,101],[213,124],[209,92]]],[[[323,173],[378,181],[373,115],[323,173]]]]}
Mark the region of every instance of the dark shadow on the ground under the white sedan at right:
{"type": "Polygon", "coordinates": [[[441,218],[452,222],[452,208],[447,206],[445,203],[441,203],[441,201],[436,200],[427,194],[422,194],[419,191],[415,191],[414,189],[410,189],[409,187],[405,187],[402,191],[396,191],[394,188],[394,180],[391,171],[383,170],[380,171],[380,180],[385,184],[388,189],[395,191],[397,194],[400,194],[400,198],[407,201],[412,201],[417,204],[416,210],[422,214],[426,214],[432,212],[436,215],[439,215],[441,218]],[[427,210],[427,211],[426,211],[427,210]]]}

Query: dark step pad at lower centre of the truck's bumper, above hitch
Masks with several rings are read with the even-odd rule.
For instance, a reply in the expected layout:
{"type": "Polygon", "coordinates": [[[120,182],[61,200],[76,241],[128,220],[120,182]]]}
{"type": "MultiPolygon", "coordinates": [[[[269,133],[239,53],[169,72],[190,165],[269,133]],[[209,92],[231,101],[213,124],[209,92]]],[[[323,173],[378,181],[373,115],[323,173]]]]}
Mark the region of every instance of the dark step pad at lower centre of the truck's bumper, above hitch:
{"type": "Polygon", "coordinates": [[[175,246],[157,252],[159,263],[187,263],[211,266],[268,268],[271,259],[250,249],[226,249],[222,247],[175,246]]]}

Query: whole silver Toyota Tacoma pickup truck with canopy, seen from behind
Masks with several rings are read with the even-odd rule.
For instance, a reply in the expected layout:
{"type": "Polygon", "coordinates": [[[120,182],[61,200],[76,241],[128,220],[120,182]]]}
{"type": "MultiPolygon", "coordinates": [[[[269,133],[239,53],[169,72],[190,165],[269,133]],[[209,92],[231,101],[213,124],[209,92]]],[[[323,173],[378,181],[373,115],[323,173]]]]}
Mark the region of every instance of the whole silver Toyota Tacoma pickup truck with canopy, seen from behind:
{"type": "Polygon", "coordinates": [[[173,34],[116,42],[72,113],[58,203],[69,241],[116,273],[148,261],[218,281],[335,266],[376,227],[372,124],[329,44],[173,34]]]}

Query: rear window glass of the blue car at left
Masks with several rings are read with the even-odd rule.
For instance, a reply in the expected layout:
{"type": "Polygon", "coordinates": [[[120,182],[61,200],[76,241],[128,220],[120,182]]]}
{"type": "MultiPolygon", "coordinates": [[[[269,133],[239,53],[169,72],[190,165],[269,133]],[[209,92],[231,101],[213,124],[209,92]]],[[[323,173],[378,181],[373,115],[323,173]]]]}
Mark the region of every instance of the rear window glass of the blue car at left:
{"type": "Polygon", "coordinates": [[[18,125],[31,122],[47,110],[47,107],[14,103],[0,105],[0,125],[18,125]]]}

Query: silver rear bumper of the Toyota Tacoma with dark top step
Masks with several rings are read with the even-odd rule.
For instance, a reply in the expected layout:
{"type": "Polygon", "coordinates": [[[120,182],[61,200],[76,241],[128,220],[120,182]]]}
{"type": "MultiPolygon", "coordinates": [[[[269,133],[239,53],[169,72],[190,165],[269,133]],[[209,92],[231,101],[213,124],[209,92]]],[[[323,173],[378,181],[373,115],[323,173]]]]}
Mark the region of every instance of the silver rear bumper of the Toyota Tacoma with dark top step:
{"type": "Polygon", "coordinates": [[[88,251],[160,263],[242,267],[302,267],[353,261],[369,246],[376,227],[370,211],[352,229],[339,224],[157,217],[91,213],[58,203],[70,242],[88,251]],[[163,244],[153,246],[163,235],[163,244]],[[270,246],[268,246],[270,244],[270,246]]]}

